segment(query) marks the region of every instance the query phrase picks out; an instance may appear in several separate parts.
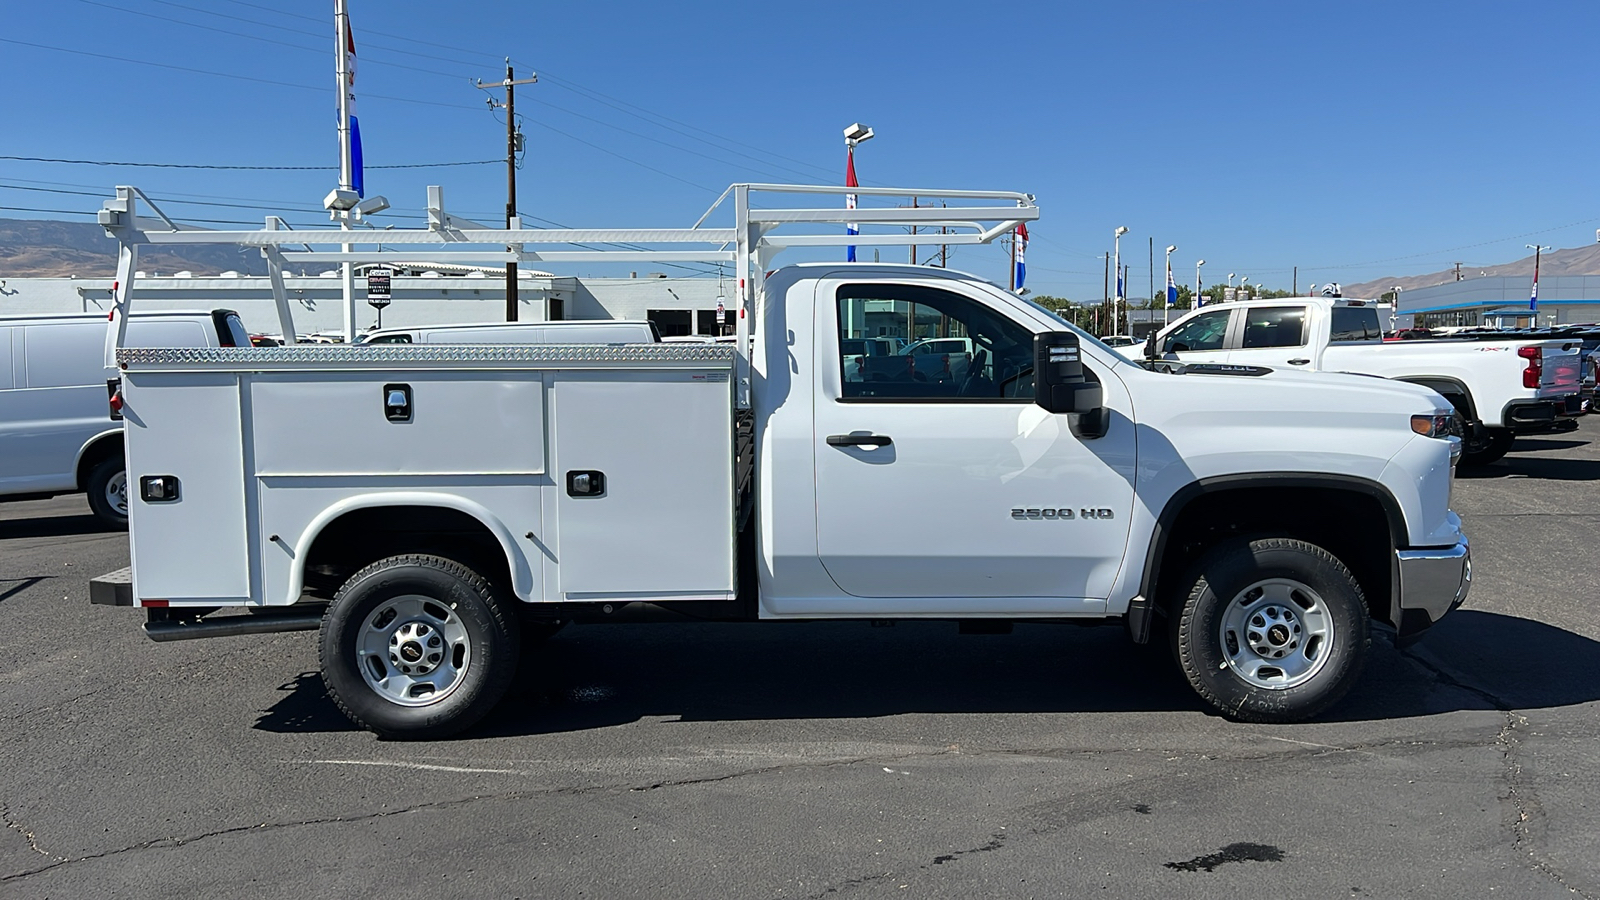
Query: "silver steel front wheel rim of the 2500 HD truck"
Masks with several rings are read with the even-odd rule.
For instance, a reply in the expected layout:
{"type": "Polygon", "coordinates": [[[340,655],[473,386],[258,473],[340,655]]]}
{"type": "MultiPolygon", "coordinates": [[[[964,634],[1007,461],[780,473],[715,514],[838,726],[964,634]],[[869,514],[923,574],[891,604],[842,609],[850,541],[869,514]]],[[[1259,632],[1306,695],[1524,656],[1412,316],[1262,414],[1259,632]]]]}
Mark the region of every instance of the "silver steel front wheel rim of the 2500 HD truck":
{"type": "Polygon", "coordinates": [[[1234,594],[1218,628],[1224,666],[1245,684],[1288,690],[1317,677],[1334,650],[1322,594],[1293,578],[1267,578],[1234,594]]]}

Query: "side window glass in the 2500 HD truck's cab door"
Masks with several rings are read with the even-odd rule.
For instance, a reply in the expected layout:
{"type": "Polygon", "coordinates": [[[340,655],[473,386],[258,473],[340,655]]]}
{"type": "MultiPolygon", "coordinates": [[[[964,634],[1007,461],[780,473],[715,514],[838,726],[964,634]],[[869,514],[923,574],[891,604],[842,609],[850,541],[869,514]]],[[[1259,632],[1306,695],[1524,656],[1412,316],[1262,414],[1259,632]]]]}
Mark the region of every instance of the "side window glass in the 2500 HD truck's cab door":
{"type": "Polygon", "coordinates": [[[1034,333],[974,299],[845,285],[837,301],[842,400],[1034,399],[1034,333]]]}

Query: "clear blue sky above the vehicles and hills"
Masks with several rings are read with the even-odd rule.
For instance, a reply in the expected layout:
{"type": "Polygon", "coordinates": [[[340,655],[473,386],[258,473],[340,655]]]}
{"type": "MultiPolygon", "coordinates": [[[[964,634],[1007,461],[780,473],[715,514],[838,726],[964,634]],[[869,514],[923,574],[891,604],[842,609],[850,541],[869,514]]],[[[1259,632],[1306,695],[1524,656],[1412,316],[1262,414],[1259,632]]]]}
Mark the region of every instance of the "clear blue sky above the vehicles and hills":
{"type": "MultiPolygon", "coordinates": [[[[368,165],[501,159],[504,125],[469,82],[510,56],[541,75],[518,91],[520,208],[570,226],[690,224],[733,181],[842,179],[840,130],[859,120],[878,135],[862,183],[1037,194],[1029,287],[1074,299],[1099,296],[1120,224],[1134,295],[1150,237],[1157,269],[1179,247],[1179,282],[1205,258],[1206,283],[1288,288],[1291,266],[1301,287],[1350,283],[1600,227],[1592,2],[349,2],[368,165]]],[[[0,10],[0,155],[336,165],[331,0],[0,10]]],[[[37,189],[133,183],[310,210],[333,181],[0,160],[0,207],[93,211],[37,189]]],[[[366,173],[402,215],[438,183],[493,219],[504,181],[504,165],[366,173]]],[[[950,263],[1005,279],[998,247],[950,263]]]]}

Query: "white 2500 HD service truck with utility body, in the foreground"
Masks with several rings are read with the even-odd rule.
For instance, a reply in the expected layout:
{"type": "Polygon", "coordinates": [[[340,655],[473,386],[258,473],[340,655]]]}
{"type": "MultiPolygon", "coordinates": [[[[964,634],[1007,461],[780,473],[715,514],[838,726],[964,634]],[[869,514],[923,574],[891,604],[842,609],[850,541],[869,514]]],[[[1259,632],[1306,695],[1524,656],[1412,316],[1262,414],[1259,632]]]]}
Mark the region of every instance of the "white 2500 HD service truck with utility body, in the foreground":
{"type": "MultiPolygon", "coordinates": [[[[981,197],[1010,205],[952,207],[952,229],[1037,216],[981,197]]],[[[1371,620],[1410,641],[1467,596],[1434,391],[1152,370],[946,269],[768,272],[782,223],[896,210],[738,203],[712,235],[739,243],[738,346],[118,351],[133,565],[93,601],[157,641],[317,629],[352,721],[427,738],[566,621],[1122,625],[1216,711],[1294,721],[1357,681],[1371,620]],[[850,341],[925,320],[971,341],[965,378],[848,376],[850,341]]]]}

